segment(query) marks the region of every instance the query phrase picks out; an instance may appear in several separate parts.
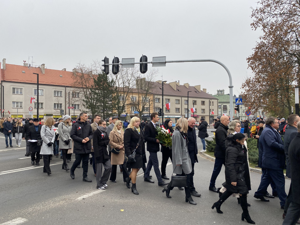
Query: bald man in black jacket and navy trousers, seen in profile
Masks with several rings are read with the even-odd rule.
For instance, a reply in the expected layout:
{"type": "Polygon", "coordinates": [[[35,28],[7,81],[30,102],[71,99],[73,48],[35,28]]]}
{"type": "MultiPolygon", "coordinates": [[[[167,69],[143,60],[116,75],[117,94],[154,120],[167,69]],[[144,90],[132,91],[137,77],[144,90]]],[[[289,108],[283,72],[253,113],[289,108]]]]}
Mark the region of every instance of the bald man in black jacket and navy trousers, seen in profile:
{"type": "Polygon", "coordinates": [[[225,140],[227,137],[227,130],[229,124],[229,117],[228,116],[221,116],[220,118],[220,125],[215,132],[215,139],[216,139],[216,147],[214,149],[214,170],[211,174],[209,190],[217,192],[216,188],[216,179],[222,169],[222,165],[225,166],[225,140]]]}

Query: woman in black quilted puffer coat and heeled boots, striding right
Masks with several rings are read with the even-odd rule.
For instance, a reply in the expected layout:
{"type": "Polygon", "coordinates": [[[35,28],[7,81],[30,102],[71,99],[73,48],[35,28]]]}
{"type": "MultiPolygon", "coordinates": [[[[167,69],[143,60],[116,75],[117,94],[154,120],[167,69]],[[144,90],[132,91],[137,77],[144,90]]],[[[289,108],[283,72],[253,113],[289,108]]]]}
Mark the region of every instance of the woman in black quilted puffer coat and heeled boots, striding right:
{"type": "Polygon", "coordinates": [[[243,209],[241,219],[246,219],[248,223],[255,224],[251,220],[248,206],[247,193],[251,190],[250,173],[247,162],[247,149],[244,148],[245,136],[237,133],[229,134],[226,139],[226,155],[225,155],[225,179],[223,186],[226,191],[220,196],[219,201],[215,202],[211,207],[216,207],[217,213],[223,213],[220,210],[222,203],[233,193],[239,193],[241,208],[243,209]]]}

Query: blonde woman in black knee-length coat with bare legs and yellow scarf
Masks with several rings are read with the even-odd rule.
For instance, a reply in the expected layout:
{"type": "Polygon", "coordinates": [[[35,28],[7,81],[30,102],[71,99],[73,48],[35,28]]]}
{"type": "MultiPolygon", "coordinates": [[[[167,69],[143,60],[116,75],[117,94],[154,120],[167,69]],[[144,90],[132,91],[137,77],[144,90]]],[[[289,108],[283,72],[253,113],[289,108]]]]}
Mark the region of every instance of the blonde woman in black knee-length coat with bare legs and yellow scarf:
{"type": "Polygon", "coordinates": [[[140,131],[140,118],[133,117],[130,120],[128,128],[124,132],[124,149],[128,160],[131,161],[128,168],[132,168],[132,171],[128,178],[126,178],[126,186],[130,188],[130,181],[132,182],[131,192],[139,194],[137,192],[137,172],[143,167],[143,155],[145,153],[145,147],[143,145],[143,134],[140,131]],[[136,150],[135,150],[136,149],[136,150]],[[132,155],[135,150],[135,157],[132,155]]]}

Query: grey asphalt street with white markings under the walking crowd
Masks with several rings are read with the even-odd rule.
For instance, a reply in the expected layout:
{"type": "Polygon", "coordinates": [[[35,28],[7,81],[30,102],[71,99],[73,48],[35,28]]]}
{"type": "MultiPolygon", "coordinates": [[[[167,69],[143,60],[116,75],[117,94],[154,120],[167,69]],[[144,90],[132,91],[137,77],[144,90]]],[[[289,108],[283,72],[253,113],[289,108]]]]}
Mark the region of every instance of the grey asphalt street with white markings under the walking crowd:
{"type": "MultiPolygon", "coordinates": [[[[214,129],[208,129],[209,139],[214,129]]],[[[201,141],[197,138],[198,149],[201,141]]],[[[201,197],[194,197],[197,205],[184,201],[185,194],[177,188],[171,191],[171,199],[162,193],[152,169],[154,184],[144,182],[143,173],[137,178],[139,195],[131,193],[122,182],[122,173],[117,173],[117,183],[107,182],[105,190],[96,189],[96,178],[89,165],[91,183],[82,181],[82,168],[75,170],[75,179],[69,171],[61,169],[62,159],[53,158],[50,163],[52,174],[43,173],[40,166],[32,166],[26,153],[25,141],[21,147],[5,148],[4,135],[0,134],[0,225],[3,224],[247,224],[241,221],[241,207],[237,199],[230,197],[223,203],[218,214],[211,206],[218,194],[208,190],[214,162],[198,155],[195,164],[194,184],[201,197]]],[[[13,146],[16,141],[13,140],[13,146]]],[[[147,158],[149,154],[147,153],[147,158]]],[[[68,164],[72,166],[72,161],[68,164]]],[[[161,153],[158,153],[161,161],[161,153]]],[[[118,169],[119,171],[119,169],[118,169]]],[[[171,177],[172,164],[169,160],[167,176],[171,177]]],[[[143,170],[140,170],[143,172],[143,170]]],[[[256,224],[282,224],[283,210],[279,199],[262,202],[253,198],[261,174],[250,172],[252,190],[248,195],[249,213],[256,224]]],[[[216,186],[225,181],[224,167],[217,178],[216,186]]],[[[286,193],[290,180],[286,179],[286,193]]],[[[268,189],[271,193],[271,188],[268,189]]]]}

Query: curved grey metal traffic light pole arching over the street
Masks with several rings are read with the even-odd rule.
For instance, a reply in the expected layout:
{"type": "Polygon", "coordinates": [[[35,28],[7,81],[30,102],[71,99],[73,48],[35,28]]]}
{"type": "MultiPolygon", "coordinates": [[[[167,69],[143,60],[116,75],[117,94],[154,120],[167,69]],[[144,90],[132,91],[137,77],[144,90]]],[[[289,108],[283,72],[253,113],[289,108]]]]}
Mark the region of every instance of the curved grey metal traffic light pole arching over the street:
{"type": "MultiPolygon", "coordinates": [[[[106,57],[105,57],[106,59],[106,57]]],[[[102,60],[104,62],[106,62],[105,60],[102,60]]],[[[231,77],[231,73],[229,71],[229,69],[220,61],[214,60],[214,59],[187,59],[187,60],[171,60],[171,61],[149,61],[149,62],[129,62],[129,63],[105,63],[102,66],[105,67],[105,72],[107,72],[107,67],[109,65],[130,65],[130,64],[156,64],[156,63],[161,63],[161,64],[165,64],[165,63],[171,63],[171,62],[215,62],[219,65],[221,65],[227,72],[228,76],[229,76],[229,102],[230,102],[230,118],[233,118],[234,116],[234,108],[233,108],[233,85],[232,85],[232,77],[231,77]]],[[[109,71],[108,71],[109,73],[109,71]]]]}

